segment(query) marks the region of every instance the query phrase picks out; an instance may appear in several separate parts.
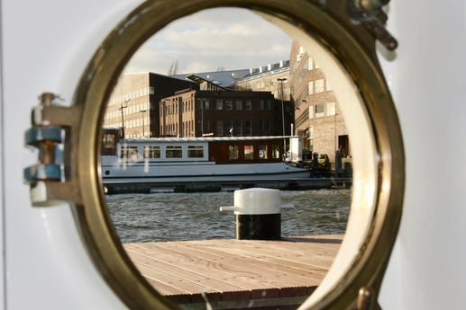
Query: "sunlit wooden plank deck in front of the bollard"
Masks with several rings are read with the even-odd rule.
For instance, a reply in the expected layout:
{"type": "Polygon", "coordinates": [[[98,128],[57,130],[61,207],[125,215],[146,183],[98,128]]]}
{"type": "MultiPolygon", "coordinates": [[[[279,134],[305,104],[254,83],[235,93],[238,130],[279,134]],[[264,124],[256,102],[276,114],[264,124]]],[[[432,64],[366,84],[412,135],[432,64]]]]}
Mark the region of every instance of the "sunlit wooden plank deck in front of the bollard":
{"type": "Polygon", "coordinates": [[[233,239],[123,246],[161,295],[180,305],[189,304],[190,309],[196,304],[203,308],[206,300],[215,304],[215,309],[251,307],[251,300],[260,309],[291,309],[324,279],[342,238],[318,235],[279,241],[233,239]]]}

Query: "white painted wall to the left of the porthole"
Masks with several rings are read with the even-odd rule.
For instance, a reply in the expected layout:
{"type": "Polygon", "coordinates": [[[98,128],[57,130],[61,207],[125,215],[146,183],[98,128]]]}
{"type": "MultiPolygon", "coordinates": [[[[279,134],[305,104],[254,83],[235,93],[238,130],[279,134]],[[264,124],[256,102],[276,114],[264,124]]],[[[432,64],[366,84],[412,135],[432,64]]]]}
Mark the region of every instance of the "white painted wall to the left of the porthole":
{"type": "Polygon", "coordinates": [[[38,96],[59,93],[69,104],[98,44],[137,1],[2,0],[1,5],[4,307],[124,308],[87,260],[69,207],[32,208],[23,168],[37,162],[37,153],[23,141],[38,96]]]}

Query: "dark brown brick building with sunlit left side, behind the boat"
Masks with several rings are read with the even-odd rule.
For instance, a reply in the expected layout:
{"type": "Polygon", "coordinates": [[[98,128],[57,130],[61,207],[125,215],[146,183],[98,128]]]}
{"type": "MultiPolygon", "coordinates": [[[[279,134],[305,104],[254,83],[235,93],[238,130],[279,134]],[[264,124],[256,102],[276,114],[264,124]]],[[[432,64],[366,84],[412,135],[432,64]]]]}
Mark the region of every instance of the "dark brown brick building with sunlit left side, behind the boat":
{"type": "Polygon", "coordinates": [[[281,136],[282,130],[281,101],[270,92],[181,90],[160,100],[161,136],[281,136]]]}

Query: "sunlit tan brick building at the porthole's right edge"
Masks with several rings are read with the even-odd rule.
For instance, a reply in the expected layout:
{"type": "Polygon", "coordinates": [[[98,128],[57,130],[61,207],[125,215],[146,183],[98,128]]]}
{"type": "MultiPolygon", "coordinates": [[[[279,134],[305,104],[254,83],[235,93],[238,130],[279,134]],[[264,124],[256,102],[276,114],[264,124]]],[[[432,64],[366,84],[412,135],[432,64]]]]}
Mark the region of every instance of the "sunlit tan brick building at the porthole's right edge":
{"type": "Polygon", "coordinates": [[[351,155],[351,145],[343,115],[339,111],[331,81],[305,50],[294,41],[290,50],[289,84],[295,111],[295,128],[304,137],[304,147],[326,154],[334,161],[335,151],[351,155]]]}

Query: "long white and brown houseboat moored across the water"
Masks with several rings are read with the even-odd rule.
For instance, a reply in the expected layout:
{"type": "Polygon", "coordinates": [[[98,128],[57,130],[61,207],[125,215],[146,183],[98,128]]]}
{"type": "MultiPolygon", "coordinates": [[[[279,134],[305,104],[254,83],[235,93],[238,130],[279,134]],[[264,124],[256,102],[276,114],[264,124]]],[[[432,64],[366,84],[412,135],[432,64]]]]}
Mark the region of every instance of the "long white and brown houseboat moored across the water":
{"type": "Polygon", "coordinates": [[[283,162],[284,138],[289,137],[124,138],[122,128],[104,128],[103,181],[109,186],[308,179],[308,169],[283,162]]]}

